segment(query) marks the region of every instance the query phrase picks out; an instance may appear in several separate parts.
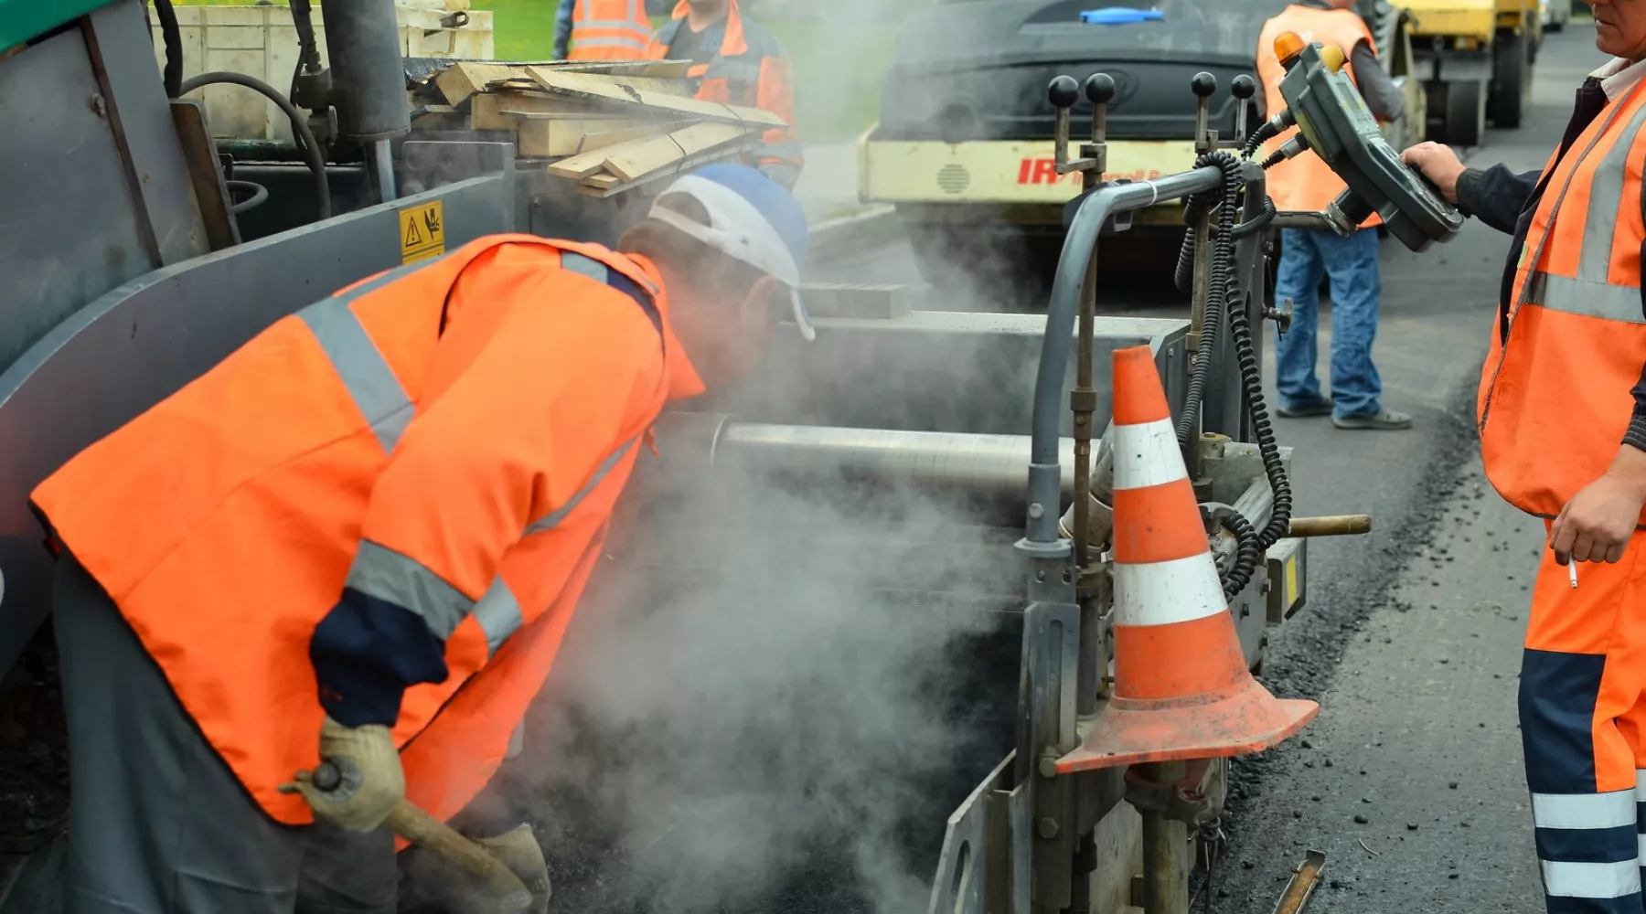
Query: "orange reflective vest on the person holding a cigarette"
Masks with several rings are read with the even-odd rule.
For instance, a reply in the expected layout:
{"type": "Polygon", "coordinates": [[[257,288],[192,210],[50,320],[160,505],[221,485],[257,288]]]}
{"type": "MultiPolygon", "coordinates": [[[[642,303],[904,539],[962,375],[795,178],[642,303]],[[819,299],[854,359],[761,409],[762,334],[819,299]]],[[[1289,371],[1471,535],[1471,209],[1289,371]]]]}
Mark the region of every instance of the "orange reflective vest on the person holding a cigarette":
{"type": "MultiPolygon", "coordinates": [[[[1491,485],[1554,518],[1611,465],[1646,365],[1641,164],[1646,89],[1610,102],[1546,187],[1521,248],[1508,334],[1493,321],[1476,419],[1491,485]]],[[[1551,173],[1551,169],[1554,169],[1551,173]]]]}

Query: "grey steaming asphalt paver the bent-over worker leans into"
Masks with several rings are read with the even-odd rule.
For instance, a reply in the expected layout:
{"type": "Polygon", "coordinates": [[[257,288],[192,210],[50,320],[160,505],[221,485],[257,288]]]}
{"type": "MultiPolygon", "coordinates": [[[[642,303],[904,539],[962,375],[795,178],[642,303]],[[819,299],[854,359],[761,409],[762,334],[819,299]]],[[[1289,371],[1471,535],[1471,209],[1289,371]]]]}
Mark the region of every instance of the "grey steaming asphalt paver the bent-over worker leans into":
{"type": "MultiPolygon", "coordinates": [[[[472,100],[448,95],[461,87],[402,58],[388,0],[328,2],[329,66],[309,58],[300,92],[326,100],[308,112],[328,141],[293,115],[313,168],[234,164],[230,178],[237,159],[183,99],[188,82],[156,69],[138,0],[12,7],[0,89],[28,102],[0,107],[0,163],[18,176],[0,225],[7,914],[56,909],[72,802],[43,625],[51,559],[28,492],[337,288],[487,233],[561,233],[574,222],[533,184],[551,166],[578,173],[565,196],[591,207],[644,199],[624,182],[647,178],[614,151],[627,138],[538,161],[520,155],[520,125],[512,140],[476,136],[472,100]],[[418,132],[421,117],[446,128],[418,132]],[[566,164],[584,155],[597,164],[566,164]],[[258,210],[268,222],[253,228],[258,210]]],[[[1213,164],[1141,181],[1103,179],[1121,81],[1042,82],[1037,117],[1072,140],[1053,143],[1052,169],[1080,181],[1044,316],[810,286],[813,345],[785,332],[756,376],[667,414],[665,459],[645,462],[616,518],[522,753],[453,825],[530,817],[563,911],[851,911],[867,898],[882,911],[1185,914],[1197,843],[1215,860],[1228,753],[1177,746],[1162,761],[1188,764],[1129,776],[1101,751],[1114,700],[1109,357],[1152,355],[1233,649],[1261,667],[1267,628],[1305,605],[1307,538],[1369,526],[1290,503],[1294,455],[1261,399],[1264,322],[1286,319],[1264,306],[1266,240],[1282,225],[1348,232],[1371,210],[1414,248],[1460,225],[1383,141],[1341,53],[1299,48],[1290,107],[1261,127],[1241,113],[1249,77],[1179,81],[1188,141],[1213,164]],[[1211,135],[1215,110],[1234,110],[1226,135],[1211,135]],[[1322,156],[1350,187],[1320,214],[1276,214],[1251,159],[1294,123],[1310,151],[1294,141],[1287,155],[1322,156]],[[1172,201],[1188,214],[1183,317],[1103,317],[1096,252],[1172,201]]],[[[525,84],[505,66],[479,87],[458,72],[510,105],[570,104],[578,87],[578,104],[604,110],[588,81],[538,69],[525,84]]],[[[408,909],[416,853],[403,856],[408,909]]]]}

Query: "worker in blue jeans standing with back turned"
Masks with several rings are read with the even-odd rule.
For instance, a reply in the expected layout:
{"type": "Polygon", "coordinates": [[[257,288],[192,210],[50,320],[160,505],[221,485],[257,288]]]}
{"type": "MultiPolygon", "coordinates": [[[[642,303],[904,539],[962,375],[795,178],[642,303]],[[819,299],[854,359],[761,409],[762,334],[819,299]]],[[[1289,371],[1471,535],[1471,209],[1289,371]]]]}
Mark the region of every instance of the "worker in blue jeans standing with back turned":
{"type": "MultiPolygon", "coordinates": [[[[1281,67],[1274,39],[1294,31],[1305,41],[1337,44],[1348,51],[1345,71],[1355,81],[1366,107],[1386,122],[1402,115],[1401,89],[1378,62],[1378,46],[1355,0],[1299,0],[1264,23],[1258,38],[1258,76],[1262,79],[1269,112],[1286,107],[1281,95],[1281,67]]],[[[1276,138],[1274,151],[1295,133],[1276,138]]],[[[1276,209],[1327,209],[1343,192],[1343,179],[1317,156],[1297,156],[1269,169],[1269,196],[1276,209]]],[[[1287,418],[1332,416],[1340,429],[1407,429],[1411,416],[1384,409],[1383,378],[1371,362],[1378,335],[1378,304],[1383,279],[1378,270],[1376,214],[1350,237],[1317,228],[1282,228],[1281,263],[1274,299],[1292,302],[1292,324],[1276,344],[1276,385],[1279,414],[1287,418]],[[1332,396],[1320,393],[1315,376],[1318,360],[1320,279],[1332,279],[1332,396]]]]}

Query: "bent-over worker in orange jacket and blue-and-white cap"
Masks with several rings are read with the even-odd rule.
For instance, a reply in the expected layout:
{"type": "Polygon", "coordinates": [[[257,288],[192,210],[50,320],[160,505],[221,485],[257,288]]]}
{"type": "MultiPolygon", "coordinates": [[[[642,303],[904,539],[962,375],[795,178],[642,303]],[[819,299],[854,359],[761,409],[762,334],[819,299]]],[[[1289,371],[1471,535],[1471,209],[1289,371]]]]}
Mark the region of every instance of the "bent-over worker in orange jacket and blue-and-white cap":
{"type": "Polygon", "coordinates": [[[69,912],[395,911],[385,817],[497,771],[658,411],[811,339],[805,252],[788,192],[709,166],[617,250],[349,286],[46,478],[69,912]]]}

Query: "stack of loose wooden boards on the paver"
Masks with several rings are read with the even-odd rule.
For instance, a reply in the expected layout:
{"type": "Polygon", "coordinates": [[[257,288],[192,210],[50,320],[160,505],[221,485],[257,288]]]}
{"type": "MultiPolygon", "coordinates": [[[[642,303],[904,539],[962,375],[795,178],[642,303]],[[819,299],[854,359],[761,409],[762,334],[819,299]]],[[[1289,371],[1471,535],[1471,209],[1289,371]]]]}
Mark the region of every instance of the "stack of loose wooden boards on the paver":
{"type": "Polygon", "coordinates": [[[458,62],[436,72],[433,85],[444,110],[467,108],[471,130],[512,132],[522,158],[551,159],[550,174],[609,197],[739,158],[762,132],[783,127],[770,112],[693,99],[690,66],[458,62]]]}

